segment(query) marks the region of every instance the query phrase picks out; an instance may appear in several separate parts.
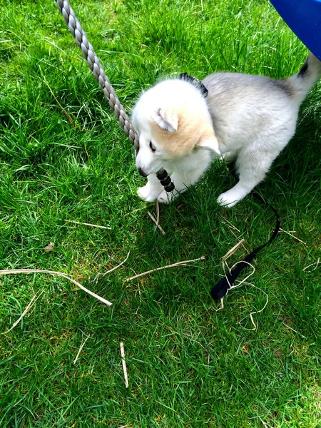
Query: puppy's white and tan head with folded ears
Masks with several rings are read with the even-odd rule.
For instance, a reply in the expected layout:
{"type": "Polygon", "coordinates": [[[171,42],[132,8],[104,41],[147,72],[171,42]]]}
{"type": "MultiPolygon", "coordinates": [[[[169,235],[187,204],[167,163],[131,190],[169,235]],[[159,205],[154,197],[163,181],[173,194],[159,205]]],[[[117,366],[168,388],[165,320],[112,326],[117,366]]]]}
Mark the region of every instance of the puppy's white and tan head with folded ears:
{"type": "Polygon", "coordinates": [[[204,93],[190,81],[162,81],[143,93],[132,120],[139,135],[136,167],[141,175],[156,173],[164,161],[195,150],[220,155],[204,93]]]}

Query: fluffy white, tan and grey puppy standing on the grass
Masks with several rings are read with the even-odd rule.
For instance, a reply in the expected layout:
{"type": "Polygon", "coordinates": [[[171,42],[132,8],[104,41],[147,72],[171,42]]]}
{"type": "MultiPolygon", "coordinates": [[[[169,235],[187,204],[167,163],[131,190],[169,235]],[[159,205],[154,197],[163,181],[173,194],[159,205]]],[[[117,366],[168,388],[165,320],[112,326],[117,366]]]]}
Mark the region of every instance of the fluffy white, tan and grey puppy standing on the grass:
{"type": "Polygon", "coordinates": [[[233,207],[265,178],[294,135],[300,104],[320,75],[321,62],[310,53],[287,79],[213,73],[200,82],[184,73],[144,92],[132,115],[140,140],[136,167],[148,176],[138,195],[169,202],[223,156],[236,159],[239,181],[218,203],[233,207]],[[173,193],[156,177],[161,167],[171,174],[173,193]]]}

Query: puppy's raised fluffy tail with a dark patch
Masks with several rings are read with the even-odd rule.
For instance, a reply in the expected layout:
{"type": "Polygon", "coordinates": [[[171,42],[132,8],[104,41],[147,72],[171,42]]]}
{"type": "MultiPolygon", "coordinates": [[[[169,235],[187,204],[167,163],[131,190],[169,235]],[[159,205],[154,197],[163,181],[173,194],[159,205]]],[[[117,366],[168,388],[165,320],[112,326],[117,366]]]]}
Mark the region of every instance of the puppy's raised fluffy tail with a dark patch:
{"type": "Polygon", "coordinates": [[[307,56],[300,71],[288,79],[295,89],[295,96],[300,103],[305,99],[312,86],[317,83],[320,76],[321,61],[312,52],[309,52],[309,56],[307,56]]]}

